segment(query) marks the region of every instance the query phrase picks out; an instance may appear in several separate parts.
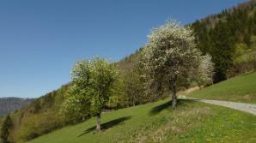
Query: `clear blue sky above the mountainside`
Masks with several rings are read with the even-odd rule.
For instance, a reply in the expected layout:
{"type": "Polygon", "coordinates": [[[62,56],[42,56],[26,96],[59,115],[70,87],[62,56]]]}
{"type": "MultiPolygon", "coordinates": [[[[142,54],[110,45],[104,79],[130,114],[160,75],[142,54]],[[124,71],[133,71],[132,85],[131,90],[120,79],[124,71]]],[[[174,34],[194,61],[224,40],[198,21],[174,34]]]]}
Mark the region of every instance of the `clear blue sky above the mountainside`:
{"type": "Polygon", "coordinates": [[[136,51],[170,16],[186,24],[244,1],[1,1],[0,97],[40,97],[69,82],[82,58],[136,51]]]}

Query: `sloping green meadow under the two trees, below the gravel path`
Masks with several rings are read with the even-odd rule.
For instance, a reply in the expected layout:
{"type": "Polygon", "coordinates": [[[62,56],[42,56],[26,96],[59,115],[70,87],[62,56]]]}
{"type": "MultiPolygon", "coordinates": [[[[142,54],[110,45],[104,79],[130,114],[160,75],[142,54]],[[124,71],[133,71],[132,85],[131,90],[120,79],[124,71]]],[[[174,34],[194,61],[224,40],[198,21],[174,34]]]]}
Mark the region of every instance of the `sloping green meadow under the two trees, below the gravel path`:
{"type": "Polygon", "coordinates": [[[115,110],[102,115],[100,133],[91,118],[29,143],[256,142],[256,116],[192,100],[180,100],[176,110],[169,105],[165,99],[115,110]]]}

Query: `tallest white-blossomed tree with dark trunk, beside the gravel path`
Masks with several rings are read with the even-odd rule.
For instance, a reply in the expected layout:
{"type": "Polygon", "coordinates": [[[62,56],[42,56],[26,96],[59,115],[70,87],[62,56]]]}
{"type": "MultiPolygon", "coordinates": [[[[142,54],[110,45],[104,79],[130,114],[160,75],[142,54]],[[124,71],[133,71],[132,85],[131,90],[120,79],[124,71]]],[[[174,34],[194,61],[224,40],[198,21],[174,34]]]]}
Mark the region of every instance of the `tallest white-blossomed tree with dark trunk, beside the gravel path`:
{"type": "Polygon", "coordinates": [[[190,27],[180,26],[174,20],[153,28],[148,45],[143,50],[143,63],[149,72],[149,83],[159,89],[168,85],[172,90],[172,106],[177,104],[176,82],[198,68],[200,52],[195,48],[190,27]]]}

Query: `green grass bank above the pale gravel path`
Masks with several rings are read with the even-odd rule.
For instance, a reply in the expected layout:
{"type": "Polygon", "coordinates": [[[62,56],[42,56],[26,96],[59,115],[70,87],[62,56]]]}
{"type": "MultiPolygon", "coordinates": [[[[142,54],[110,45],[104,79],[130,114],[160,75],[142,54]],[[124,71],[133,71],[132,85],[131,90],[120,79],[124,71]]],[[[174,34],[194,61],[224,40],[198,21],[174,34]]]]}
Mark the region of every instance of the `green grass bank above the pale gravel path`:
{"type": "Polygon", "coordinates": [[[236,76],[213,86],[191,92],[187,96],[192,98],[256,103],[256,73],[236,76]]]}

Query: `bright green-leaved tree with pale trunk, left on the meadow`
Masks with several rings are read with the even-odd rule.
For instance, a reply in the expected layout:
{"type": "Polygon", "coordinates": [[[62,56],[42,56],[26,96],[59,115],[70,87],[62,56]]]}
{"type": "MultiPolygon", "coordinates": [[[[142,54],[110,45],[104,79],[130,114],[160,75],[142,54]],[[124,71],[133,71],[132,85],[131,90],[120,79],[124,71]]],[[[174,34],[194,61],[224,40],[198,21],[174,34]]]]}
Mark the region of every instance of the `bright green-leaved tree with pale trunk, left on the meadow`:
{"type": "Polygon", "coordinates": [[[101,111],[110,98],[113,83],[118,77],[115,65],[103,58],[83,60],[71,71],[72,85],[62,111],[65,114],[96,115],[96,130],[101,130],[101,111]]]}

